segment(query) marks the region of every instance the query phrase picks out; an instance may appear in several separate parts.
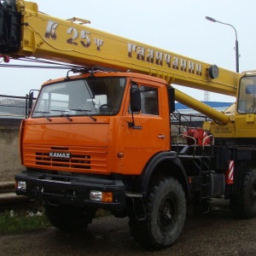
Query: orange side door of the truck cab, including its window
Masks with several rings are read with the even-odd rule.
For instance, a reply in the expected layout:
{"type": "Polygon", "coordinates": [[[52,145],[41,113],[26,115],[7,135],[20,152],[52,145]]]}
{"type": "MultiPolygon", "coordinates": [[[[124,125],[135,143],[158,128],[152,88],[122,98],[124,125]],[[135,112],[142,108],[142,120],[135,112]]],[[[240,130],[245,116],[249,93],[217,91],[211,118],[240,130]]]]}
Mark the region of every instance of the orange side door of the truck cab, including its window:
{"type": "Polygon", "coordinates": [[[137,86],[141,93],[141,111],[133,113],[134,125],[127,125],[132,122],[127,106],[123,122],[123,172],[126,174],[140,174],[154,154],[170,149],[170,114],[165,84],[138,82],[137,86]]]}

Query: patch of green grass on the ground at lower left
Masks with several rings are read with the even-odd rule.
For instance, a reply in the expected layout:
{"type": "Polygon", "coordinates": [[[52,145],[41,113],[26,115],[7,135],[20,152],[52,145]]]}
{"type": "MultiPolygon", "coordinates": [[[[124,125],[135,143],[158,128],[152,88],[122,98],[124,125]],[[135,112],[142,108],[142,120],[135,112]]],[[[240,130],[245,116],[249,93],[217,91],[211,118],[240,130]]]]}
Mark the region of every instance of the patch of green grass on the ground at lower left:
{"type": "Polygon", "coordinates": [[[18,234],[49,227],[49,221],[44,214],[34,214],[26,211],[0,212],[0,235],[18,234]]]}

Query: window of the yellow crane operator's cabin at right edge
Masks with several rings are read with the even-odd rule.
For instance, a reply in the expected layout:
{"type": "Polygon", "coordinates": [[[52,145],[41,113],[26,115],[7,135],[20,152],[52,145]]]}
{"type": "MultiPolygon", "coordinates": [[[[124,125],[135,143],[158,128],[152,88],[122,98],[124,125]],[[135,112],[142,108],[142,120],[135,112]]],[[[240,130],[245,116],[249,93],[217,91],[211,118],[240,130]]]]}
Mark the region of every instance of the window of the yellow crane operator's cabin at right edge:
{"type": "Polygon", "coordinates": [[[256,113],[256,77],[241,78],[237,110],[239,113],[256,113]]]}

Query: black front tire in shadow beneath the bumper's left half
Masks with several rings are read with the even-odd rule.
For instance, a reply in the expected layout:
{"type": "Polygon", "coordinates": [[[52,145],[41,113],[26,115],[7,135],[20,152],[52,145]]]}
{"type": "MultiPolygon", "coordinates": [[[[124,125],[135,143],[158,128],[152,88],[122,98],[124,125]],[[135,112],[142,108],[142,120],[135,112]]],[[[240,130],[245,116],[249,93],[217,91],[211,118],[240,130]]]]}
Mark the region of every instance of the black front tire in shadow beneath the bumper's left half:
{"type": "Polygon", "coordinates": [[[44,209],[50,224],[63,231],[84,230],[96,216],[94,208],[53,206],[45,203],[44,209]]]}

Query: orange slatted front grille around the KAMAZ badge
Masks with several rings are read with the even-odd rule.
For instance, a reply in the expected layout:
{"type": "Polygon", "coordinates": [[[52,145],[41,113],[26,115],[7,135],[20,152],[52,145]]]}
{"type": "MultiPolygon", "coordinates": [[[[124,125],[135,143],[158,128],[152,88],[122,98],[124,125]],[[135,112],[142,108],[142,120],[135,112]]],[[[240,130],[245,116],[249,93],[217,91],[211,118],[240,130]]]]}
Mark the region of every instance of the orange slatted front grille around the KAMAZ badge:
{"type": "Polygon", "coordinates": [[[107,172],[107,148],[24,146],[24,165],[56,171],[107,172]],[[49,157],[49,152],[71,154],[70,158],[49,157]]]}

